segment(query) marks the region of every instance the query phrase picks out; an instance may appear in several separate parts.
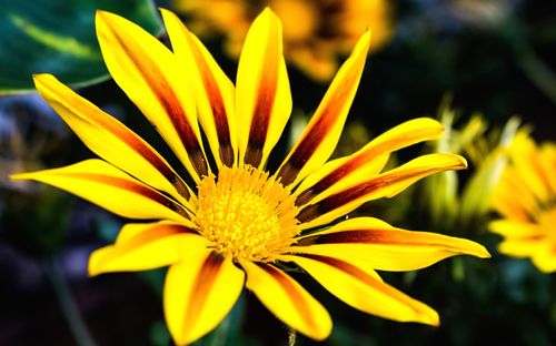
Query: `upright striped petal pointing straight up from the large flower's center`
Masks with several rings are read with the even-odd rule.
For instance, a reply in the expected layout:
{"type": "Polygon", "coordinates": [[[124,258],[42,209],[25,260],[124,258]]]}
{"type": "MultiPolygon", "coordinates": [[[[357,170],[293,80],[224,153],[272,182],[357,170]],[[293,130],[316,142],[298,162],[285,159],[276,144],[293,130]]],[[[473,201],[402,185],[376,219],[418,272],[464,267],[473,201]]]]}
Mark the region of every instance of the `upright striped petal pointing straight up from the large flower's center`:
{"type": "Polygon", "coordinates": [[[259,167],[291,113],[280,20],[265,9],[247,33],[236,79],[239,160],[259,167]]]}

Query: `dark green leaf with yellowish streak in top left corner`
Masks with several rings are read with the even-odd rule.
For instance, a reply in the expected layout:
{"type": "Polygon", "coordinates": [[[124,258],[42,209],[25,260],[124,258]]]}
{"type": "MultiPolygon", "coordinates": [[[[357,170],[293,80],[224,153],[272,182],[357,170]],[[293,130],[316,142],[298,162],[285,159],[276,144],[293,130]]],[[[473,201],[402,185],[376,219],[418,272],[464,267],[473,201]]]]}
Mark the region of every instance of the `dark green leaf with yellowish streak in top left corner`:
{"type": "Polygon", "coordinates": [[[163,30],[150,0],[0,1],[0,94],[34,91],[34,73],[52,73],[72,86],[107,80],[95,32],[97,9],[152,34],[163,30]]]}

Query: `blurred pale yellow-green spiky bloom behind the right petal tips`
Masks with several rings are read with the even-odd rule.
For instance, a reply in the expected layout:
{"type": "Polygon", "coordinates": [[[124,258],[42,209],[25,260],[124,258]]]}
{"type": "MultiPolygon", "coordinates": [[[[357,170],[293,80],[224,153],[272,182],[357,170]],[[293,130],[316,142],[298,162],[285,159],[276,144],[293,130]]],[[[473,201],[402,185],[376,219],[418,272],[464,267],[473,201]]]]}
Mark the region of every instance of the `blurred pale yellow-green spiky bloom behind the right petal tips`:
{"type": "Polygon", "coordinates": [[[449,106],[450,99],[446,98],[439,108],[438,118],[445,134],[434,142],[433,151],[465,154],[471,169],[465,180],[453,171],[430,176],[424,181],[419,195],[425,200],[434,227],[445,231],[457,227],[468,232],[487,222],[494,189],[507,162],[508,146],[519,121],[510,118],[499,129],[489,126],[485,116],[476,113],[456,126],[459,114],[449,106]]]}

